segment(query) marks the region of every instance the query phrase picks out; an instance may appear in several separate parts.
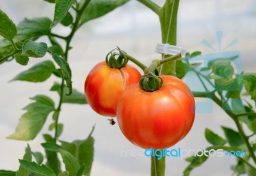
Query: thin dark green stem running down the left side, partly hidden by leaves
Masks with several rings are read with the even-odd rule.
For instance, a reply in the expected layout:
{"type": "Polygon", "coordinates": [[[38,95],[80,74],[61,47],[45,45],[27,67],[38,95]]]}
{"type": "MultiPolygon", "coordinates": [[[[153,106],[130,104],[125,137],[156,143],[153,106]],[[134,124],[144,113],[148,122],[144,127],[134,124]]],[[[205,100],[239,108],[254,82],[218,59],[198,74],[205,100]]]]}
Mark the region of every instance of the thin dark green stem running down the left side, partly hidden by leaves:
{"type": "MultiPolygon", "coordinates": [[[[76,11],[76,21],[74,22],[74,26],[72,28],[72,31],[70,32],[70,34],[63,38],[66,41],[66,48],[65,48],[65,54],[64,54],[64,58],[66,61],[68,61],[68,51],[70,48],[70,42],[74,36],[74,34],[76,33],[77,29],[79,28],[79,21],[80,18],[83,14],[83,11],[85,10],[85,8],[88,6],[88,4],[90,3],[90,0],[87,0],[84,2],[83,6],[81,7],[80,10],[76,11]]],[[[54,34],[56,37],[61,37],[62,36],[57,36],[56,34],[54,34]]],[[[57,114],[56,114],[56,119],[55,119],[55,135],[54,135],[54,142],[56,143],[56,140],[58,139],[58,121],[59,121],[59,116],[60,116],[60,110],[61,110],[61,105],[62,105],[62,100],[63,100],[63,92],[64,92],[64,78],[62,78],[61,80],[61,89],[60,89],[60,101],[59,101],[59,105],[57,108],[57,114]]]]}

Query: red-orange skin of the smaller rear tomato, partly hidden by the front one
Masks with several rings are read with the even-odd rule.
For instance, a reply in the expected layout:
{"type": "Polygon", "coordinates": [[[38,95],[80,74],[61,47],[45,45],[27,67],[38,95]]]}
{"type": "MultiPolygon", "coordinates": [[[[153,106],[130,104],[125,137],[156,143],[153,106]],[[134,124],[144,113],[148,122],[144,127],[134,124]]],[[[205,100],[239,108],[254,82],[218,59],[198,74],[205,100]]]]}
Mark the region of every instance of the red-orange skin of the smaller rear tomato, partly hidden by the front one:
{"type": "Polygon", "coordinates": [[[84,83],[84,94],[88,104],[100,115],[115,117],[117,103],[124,88],[138,83],[141,74],[128,65],[121,68],[109,68],[106,62],[100,62],[90,71],[84,83]]]}

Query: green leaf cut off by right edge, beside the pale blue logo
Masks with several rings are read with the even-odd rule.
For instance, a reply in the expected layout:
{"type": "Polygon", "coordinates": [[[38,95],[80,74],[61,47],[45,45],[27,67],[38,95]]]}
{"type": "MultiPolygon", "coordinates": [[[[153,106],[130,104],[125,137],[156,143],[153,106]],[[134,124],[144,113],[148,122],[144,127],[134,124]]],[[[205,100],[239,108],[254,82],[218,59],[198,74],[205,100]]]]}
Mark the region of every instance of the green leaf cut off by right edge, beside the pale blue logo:
{"type": "Polygon", "coordinates": [[[251,95],[256,105],[256,73],[244,73],[243,81],[246,92],[251,95]]]}

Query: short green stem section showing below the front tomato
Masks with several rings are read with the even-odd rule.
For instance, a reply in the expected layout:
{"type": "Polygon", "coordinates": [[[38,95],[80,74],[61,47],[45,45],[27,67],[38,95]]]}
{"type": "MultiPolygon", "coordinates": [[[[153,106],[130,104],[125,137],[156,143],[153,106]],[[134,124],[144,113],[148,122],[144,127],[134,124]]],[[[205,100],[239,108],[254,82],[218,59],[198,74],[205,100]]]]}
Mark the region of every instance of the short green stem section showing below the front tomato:
{"type": "Polygon", "coordinates": [[[165,156],[157,159],[151,156],[151,176],[164,176],[165,170],[165,156]]]}

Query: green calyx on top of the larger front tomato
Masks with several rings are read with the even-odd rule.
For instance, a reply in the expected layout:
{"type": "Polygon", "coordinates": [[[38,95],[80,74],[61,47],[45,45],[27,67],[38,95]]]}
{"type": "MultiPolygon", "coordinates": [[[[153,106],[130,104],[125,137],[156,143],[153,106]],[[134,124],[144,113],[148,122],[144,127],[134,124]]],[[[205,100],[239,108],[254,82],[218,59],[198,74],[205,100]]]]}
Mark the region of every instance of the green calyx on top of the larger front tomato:
{"type": "Polygon", "coordinates": [[[159,77],[158,71],[155,69],[155,73],[148,71],[147,74],[143,75],[139,84],[144,91],[154,92],[162,87],[163,78],[159,77]]]}

